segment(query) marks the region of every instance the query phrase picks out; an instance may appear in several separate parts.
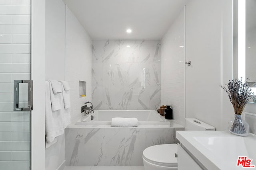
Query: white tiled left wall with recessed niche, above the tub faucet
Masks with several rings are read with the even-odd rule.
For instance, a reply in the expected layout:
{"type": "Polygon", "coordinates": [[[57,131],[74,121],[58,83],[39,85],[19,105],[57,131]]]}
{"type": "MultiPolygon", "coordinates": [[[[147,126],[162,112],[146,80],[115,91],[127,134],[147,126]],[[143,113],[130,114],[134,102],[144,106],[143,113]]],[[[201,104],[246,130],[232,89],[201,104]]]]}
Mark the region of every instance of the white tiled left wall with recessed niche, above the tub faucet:
{"type": "Polygon", "coordinates": [[[70,84],[71,122],[81,117],[81,106],[92,101],[92,40],[66,8],[66,81],[70,84]],[[86,97],[79,96],[79,80],[86,81],[86,97]]]}

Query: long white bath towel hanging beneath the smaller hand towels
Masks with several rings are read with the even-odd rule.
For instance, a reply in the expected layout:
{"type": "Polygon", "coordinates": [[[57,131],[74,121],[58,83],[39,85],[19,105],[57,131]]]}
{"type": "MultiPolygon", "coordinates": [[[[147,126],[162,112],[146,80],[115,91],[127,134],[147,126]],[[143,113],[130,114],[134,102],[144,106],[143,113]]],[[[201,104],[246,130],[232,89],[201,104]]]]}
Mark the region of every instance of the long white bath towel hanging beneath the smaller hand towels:
{"type": "MultiPolygon", "coordinates": [[[[50,82],[45,81],[45,135],[47,143],[51,143],[54,141],[55,137],[64,133],[63,111],[60,109],[57,111],[52,111],[50,97],[51,91],[52,87],[50,86],[50,82]]],[[[64,105],[62,108],[62,110],[64,110],[64,105]]]]}

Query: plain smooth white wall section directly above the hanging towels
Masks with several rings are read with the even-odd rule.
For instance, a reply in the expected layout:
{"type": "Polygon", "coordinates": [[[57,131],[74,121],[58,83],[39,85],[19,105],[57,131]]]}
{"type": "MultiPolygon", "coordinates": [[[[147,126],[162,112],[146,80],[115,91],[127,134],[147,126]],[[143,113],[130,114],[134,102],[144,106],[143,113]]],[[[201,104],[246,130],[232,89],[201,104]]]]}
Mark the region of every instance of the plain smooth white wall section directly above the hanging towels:
{"type": "Polygon", "coordinates": [[[45,79],[65,79],[65,4],[46,0],[45,79]]]}

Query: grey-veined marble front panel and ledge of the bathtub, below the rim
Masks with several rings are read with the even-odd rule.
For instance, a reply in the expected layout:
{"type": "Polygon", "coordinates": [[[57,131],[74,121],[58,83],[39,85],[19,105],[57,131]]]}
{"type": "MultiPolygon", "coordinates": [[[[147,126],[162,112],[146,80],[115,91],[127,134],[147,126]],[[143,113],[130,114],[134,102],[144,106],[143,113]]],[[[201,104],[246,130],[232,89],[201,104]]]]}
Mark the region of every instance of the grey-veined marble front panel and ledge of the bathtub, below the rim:
{"type": "Polygon", "coordinates": [[[66,166],[143,166],[142,152],[152,145],[175,143],[176,127],[84,127],[65,131],[66,166]]]}

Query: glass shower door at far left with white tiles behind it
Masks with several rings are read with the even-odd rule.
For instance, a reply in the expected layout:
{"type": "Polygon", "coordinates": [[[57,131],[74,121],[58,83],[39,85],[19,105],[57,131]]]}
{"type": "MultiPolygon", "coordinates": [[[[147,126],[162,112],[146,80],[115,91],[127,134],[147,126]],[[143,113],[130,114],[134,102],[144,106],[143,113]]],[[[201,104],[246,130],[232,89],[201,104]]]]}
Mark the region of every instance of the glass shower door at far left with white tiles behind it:
{"type": "Polygon", "coordinates": [[[0,170],[30,170],[32,88],[14,80],[30,80],[30,0],[0,1],[0,170]]]}

